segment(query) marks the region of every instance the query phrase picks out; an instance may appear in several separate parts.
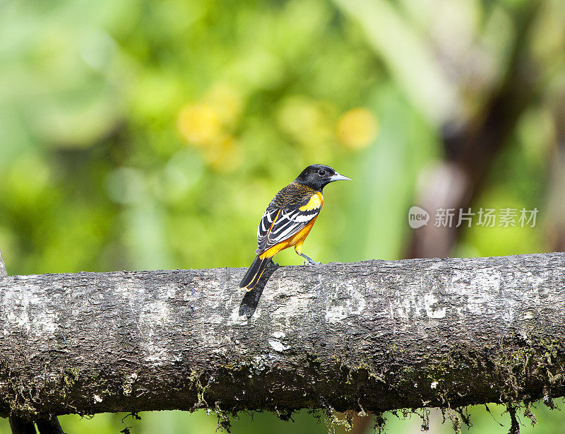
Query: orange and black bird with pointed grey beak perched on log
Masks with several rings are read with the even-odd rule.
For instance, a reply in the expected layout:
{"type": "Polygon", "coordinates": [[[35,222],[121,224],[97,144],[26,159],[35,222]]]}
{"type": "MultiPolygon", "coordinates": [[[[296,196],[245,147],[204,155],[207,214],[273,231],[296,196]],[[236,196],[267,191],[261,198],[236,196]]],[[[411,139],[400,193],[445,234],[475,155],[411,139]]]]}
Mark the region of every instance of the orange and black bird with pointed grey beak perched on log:
{"type": "Polygon", "coordinates": [[[275,194],[257,228],[257,256],[239,283],[239,289],[255,288],[273,256],[288,247],[295,247],[295,252],[307,259],[304,264],[320,264],[302,253],[302,245],[322,209],[323,187],[340,180],[351,179],[328,165],[313,164],[275,194]]]}

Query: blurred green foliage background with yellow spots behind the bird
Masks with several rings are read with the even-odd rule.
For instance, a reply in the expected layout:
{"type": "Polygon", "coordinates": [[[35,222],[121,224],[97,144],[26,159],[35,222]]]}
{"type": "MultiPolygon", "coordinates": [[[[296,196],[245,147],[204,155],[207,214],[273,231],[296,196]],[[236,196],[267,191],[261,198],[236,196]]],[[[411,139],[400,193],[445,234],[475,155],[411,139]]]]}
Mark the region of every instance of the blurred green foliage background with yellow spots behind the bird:
{"type": "MultiPolygon", "coordinates": [[[[354,182],[326,188],[304,252],[322,262],[402,257],[419,180],[444,158],[446,95],[457,91],[451,102],[461,117],[484,107],[530,3],[0,1],[0,249],[8,273],[248,266],[268,200],[311,163],[354,182]],[[442,55],[453,76],[436,74],[442,55]]],[[[454,256],[548,249],[548,160],[557,139],[545,96],[564,81],[565,57],[556,52],[564,52],[565,10],[559,0],[540,4],[528,49],[546,88],[475,204],[537,207],[538,224],[473,226],[454,256]]],[[[294,252],[278,262],[301,263],[294,252]]],[[[473,432],[509,428],[507,414],[500,428],[475,413],[473,432]]],[[[141,416],[61,423],[69,433],[216,426],[202,412],[141,416]]],[[[537,418],[536,433],[564,425],[558,411],[540,408],[537,418]]],[[[390,419],[393,433],[420,426],[413,417],[390,419]]],[[[242,416],[234,433],[326,430],[306,413],[296,420],[242,416]]],[[[434,421],[432,429],[447,429],[434,421]]]]}

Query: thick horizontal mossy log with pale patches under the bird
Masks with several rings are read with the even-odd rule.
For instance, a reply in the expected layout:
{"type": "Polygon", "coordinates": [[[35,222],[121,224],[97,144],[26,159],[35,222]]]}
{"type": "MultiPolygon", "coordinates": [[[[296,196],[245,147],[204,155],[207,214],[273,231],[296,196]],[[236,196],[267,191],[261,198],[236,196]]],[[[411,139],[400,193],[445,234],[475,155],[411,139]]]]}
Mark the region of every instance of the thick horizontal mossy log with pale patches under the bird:
{"type": "Polygon", "coordinates": [[[0,278],[0,416],[565,394],[564,253],[285,266],[258,307],[243,273],[0,278]]]}

